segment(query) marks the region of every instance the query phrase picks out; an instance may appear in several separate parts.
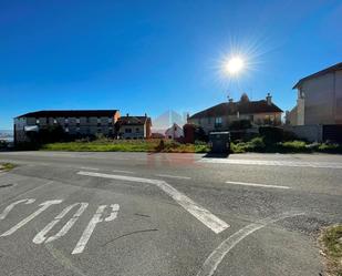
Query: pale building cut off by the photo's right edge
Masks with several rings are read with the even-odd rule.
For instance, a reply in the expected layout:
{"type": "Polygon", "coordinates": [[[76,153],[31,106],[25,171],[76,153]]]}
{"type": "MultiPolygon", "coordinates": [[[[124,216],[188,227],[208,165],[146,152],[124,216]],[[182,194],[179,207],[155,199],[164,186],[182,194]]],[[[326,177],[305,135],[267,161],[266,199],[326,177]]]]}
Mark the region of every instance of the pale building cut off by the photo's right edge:
{"type": "Polygon", "coordinates": [[[342,62],[301,79],[293,89],[298,98],[289,124],[342,124],[342,62]]]}

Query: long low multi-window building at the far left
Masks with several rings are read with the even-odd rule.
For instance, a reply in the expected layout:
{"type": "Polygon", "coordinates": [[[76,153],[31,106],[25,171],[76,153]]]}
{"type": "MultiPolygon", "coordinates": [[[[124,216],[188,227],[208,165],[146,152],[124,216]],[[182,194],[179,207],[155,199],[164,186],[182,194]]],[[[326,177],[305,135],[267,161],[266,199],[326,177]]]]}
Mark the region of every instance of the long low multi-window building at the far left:
{"type": "Polygon", "coordinates": [[[30,133],[61,126],[65,134],[114,136],[120,117],[117,110],[38,111],[14,119],[14,142],[30,142],[30,133]]]}

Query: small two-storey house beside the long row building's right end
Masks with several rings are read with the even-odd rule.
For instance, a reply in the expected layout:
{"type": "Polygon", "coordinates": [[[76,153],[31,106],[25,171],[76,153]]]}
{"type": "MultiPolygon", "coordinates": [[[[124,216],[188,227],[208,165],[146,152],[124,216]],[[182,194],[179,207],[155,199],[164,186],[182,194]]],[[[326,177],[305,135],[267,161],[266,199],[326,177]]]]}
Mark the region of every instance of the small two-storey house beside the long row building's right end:
{"type": "Polygon", "coordinates": [[[145,116],[122,116],[118,119],[120,139],[149,139],[152,135],[152,120],[145,116]]]}

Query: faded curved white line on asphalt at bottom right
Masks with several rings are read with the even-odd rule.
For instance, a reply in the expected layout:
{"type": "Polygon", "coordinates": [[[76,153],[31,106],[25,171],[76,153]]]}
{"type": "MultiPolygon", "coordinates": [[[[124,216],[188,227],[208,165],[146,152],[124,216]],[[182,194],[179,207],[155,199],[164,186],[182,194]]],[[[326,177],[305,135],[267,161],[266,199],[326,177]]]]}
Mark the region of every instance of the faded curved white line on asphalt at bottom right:
{"type": "Polygon", "coordinates": [[[303,215],[304,213],[284,213],[277,217],[268,217],[259,222],[247,225],[246,227],[239,229],[227,239],[225,239],[205,260],[201,269],[197,273],[197,276],[213,276],[218,265],[222,262],[225,256],[243,238],[252,234],[253,232],[266,227],[269,224],[276,223],[278,221],[303,215]]]}

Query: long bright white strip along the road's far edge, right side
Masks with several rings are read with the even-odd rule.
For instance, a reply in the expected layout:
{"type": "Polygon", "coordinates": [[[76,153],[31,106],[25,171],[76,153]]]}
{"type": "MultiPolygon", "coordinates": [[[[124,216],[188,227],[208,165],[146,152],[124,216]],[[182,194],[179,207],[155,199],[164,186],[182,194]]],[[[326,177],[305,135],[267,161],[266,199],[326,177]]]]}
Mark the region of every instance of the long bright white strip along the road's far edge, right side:
{"type": "Polygon", "coordinates": [[[197,162],[199,162],[199,163],[215,163],[215,164],[237,164],[237,165],[342,168],[342,163],[331,163],[331,162],[232,160],[232,159],[201,159],[197,162]]]}

